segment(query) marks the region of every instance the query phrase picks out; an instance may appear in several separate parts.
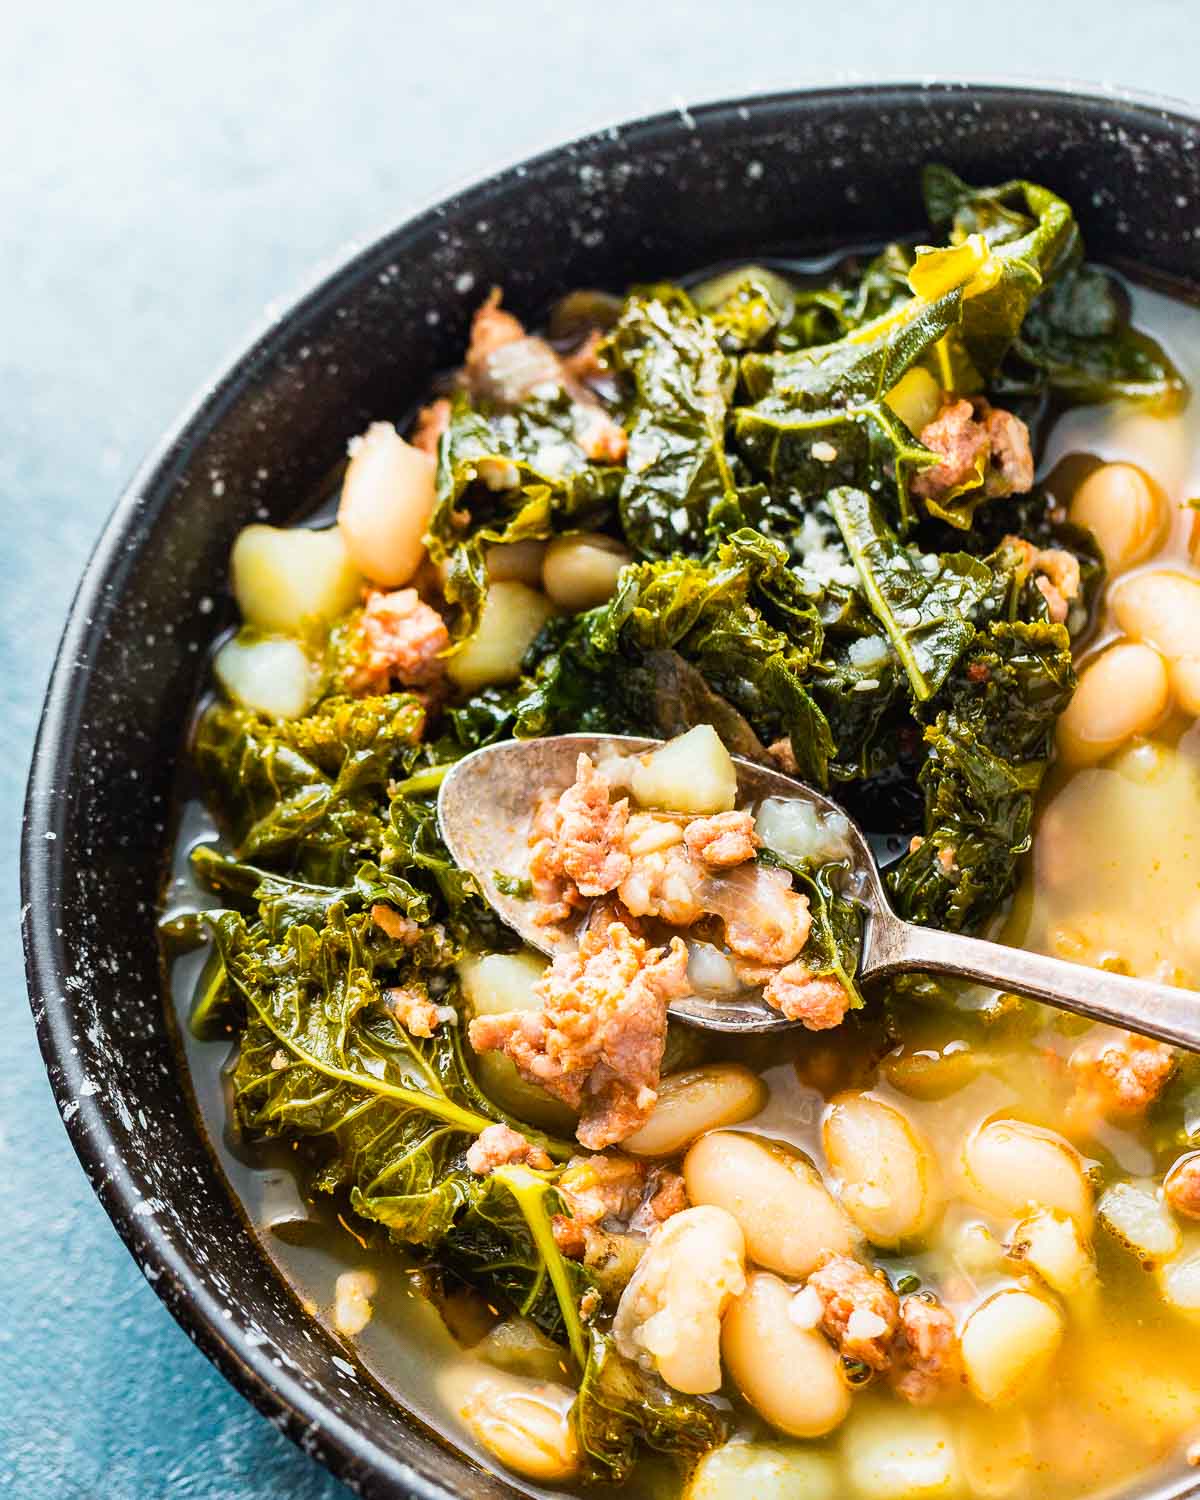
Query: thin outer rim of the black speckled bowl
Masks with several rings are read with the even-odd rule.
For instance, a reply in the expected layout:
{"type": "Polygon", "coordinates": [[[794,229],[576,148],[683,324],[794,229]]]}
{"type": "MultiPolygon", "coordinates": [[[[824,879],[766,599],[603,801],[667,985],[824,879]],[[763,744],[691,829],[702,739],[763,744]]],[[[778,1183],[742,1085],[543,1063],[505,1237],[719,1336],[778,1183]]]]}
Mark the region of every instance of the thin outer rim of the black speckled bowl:
{"type": "MultiPolygon", "coordinates": [[[[96,651],[88,622],[99,610],[104,596],[120,585],[129,560],[141,548],[150,522],[165,504],[160,502],[152,512],[146,506],[147,495],[168,494],[172,471],[182,472],[186,468],[196,440],[238,398],[240,387],[268,358],[276,340],[286,334],[292,322],[316,312],[326,298],[336,296],[345,278],[376,256],[384,242],[400,232],[420,232],[447,213],[486,201],[519,177],[532,176],[538,168],[574,153],[603,150],[606,144],[636,146],[639,140],[662,138],[700,124],[718,124],[726,117],[747,123],[756,116],[760,118],[789,110],[812,110],[822,100],[858,99],[874,108],[886,108],[890,100],[912,105],[927,98],[954,96],[1006,102],[1011,106],[1050,106],[1074,100],[1083,108],[1119,110],[1168,126],[1200,129],[1200,106],[1190,100],[1098,82],[1036,76],[846,80],[696,105],[680,100],[670,110],[600,126],[484,174],[471,174],[402,218],[390,218],[366,238],[345,243],[320,260],[290,297],[268,302],[250,332],[237,340],[232,354],[198,387],[150,448],[122,490],[92,549],[48,678],[24,801],[20,852],[21,936],[39,1048],[60,1118],[84,1173],[130,1256],[176,1322],[236,1390],[309,1456],[356,1491],[406,1496],[411,1500],[456,1500],[454,1491],[384,1452],[360,1426],[333,1414],[320,1396],[304,1389],[297,1374],[272,1362],[268,1348],[258,1347],[222,1316],[222,1305],[206,1287],[186,1250],[166,1234],[154,1215],[138,1212],[141,1194],[128,1176],[102,1107],[102,1095],[81,1088],[86,1080],[81,1065],[72,1056],[70,1010],[68,1005],[46,1004],[48,998],[57,999],[68,993],[68,976],[56,952],[56,891],[62,891],[69,806],[69,798],[60,792],[80,728],[84,682],[96,651]]],[[[1200,1492],[1200,1488],[1182,1491],[1178,1484],[1173,1480],[1161,1490],[1146,1492],[1143,1500],[1182,1500],[1184,1494],[1200,1492]]]]}

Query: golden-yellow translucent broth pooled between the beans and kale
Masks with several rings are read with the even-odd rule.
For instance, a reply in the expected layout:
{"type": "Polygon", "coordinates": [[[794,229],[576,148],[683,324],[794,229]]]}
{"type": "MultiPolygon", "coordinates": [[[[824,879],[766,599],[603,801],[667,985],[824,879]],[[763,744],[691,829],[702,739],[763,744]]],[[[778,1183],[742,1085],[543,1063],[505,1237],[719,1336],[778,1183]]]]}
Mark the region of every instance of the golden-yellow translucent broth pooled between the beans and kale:
{"type": "MultiPolygon", "coordinates": [[[[1137,322],[1164,344],[1190,386],[1200,387],[1200,310],[1142,286],[1132,288],[1132,298],[1137,322]]],[[[1048,436],[1047,488],[1068,500],[1088,468],[1080,456],[1128,460],[1154,474],[1178,504],[1200,492],[1197,420],[1196,404],[1168,417],[1114,406],[1074,410],[1048,436]]],[[[1167,562],[1196,573],[1191,525],[1192,513],[1178,508],[1170,536],[1142,568],[1167,562]]],[[[1116,633],[1106,612],[1082,660],[1116,633]]],[[[200,804],[186,804],[168,897],[176,910],[208,904],[207,892],[190,880],[186,856],[213,837],[200,804]]],[[[1100,765],[1056,768],[1041,796],[1023,882],[996,927],[1014,945],[1200,987],[1200,726],[1176,716],[1100,765]]],[[[178,1034],[201,1119],[266,1256],[328,1328],[338,1276],[374,1272],[374,1316],[357,1336],[339,1335],[346,1368],[360,1366],[516,1488],[550,1494],[500,1470],[447,1406],[447,1371],[478,1364],[465,1346],[492,1322],[486,1310],[466,1294],[438,1308],[416,1262],[399,1250],[372,1250],[336,1208],[304,1200],[288,1150],[249,1150],[236,1138],[225,1094],[228,1044],[196,1041],[186,1024],[202,962],[202,952],[174,960],[178,1034]]],[[[1022,1284],[1000,1252],[1010,1221],[981,1212],[964,1191],[963,1142],[996,1114],[1062,1130],[1072,1089],[1066,1059],[1082,1038],[1101,1035],[1100,1028],[1041,1006],[1026,1005],[1022,1016],[1014,1018],[1004,998],[962,986],[948,1006],[896,998],[898,1046],[872,1005],[832,1035],[788,1034],[726,1044],[717,1053],[760,1071],[768,1088],[760,1113],[738,1128],[796,1146],[822,1170],[820,1125],[831,1095],[872,1088],[903,1108],[933,1143],[948,1209],[918,1254],[876,1260],[892,1281],[916,1276],[936,1288],[960,1322],[996,1292],[1022,1284]]],[[[1150,1122],[1107,1122],[1080,1140],[1098,1176],[1161,1176],[1186,1143],[1200,1143],[1200,1082],[1188,1089],[1176,1080],[1170,1089],[1150,1122]]],[[[1200,1250],[1200,1228],[1188,1232],[1184,1254],[1192,1248],[1200,1250]]],[[[804,1448],[828,1455],[837,1466],[831,1474],[843,1473],[840,1466],[862,1452],[864,1434],[880,1413],[898,1412],[918,1434],[914,1442],[957,1454],[954,1485],[921,1494],[1062,1500],[1124,1491],[1149,1472],[1184,1472],[1190,1444],[1200,1440],[1197,1324],[1162,1302],[1156,1275],[1102,1228],[1095,1232],[1095,1250],[1100,1292],[1068,1314],[1054,1366],[1030,1401],[1000,1412],[970,1401],[916,1412],[868,1392],[855,1396],[850,1418],[832,1437],[804,1448]]],[[[742,1408],[738,1424],[741,1437],[786,1442],[742,1408]]],[[[855,1488],[854,1478],[831,1482],[842,1485],[837,1494],[867,1492],[855,1488]]],[[[666,1462],[646,1460],[621,1492],[666,1500],[678,1494],[678,1479],[666,1462]]],[[[747,1500],[759,1496],[742,1492],[747,1500]]],[[[807,1494],[786,1491],[794,1492],[807,1494]]],[[[812,1491],[819,1492],[825,1491],[812,1491]]],[[[762,1491],[765,1500],[772,1494],[784,1491],[762,1491]]]]}

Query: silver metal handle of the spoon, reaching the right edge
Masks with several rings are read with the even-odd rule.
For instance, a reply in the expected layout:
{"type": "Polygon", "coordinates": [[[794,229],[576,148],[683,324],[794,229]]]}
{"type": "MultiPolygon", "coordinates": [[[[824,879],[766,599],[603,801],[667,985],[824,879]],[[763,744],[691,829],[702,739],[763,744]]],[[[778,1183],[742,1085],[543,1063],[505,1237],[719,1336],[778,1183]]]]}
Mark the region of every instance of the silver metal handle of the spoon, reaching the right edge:
{"type": "Polygon", "coordinates": [[[918,927],[898,918],[872,920],[864,978],[885,974],[954,974],[1046,1000],[1094,1022],[1108,1022],[1200,1052],[1200,994],[1107,969],[1088,969],[981,938],[918,927]]]}

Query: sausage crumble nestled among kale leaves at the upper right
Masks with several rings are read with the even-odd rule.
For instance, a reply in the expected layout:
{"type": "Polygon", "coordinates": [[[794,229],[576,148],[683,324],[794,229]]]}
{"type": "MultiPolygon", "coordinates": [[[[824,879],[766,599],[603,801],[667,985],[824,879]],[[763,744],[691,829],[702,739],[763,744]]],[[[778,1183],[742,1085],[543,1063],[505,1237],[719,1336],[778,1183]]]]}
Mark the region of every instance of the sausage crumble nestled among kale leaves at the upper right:
{"type": "Polygon", "coordinates": [[[938,416],[921,429],[921,442],[940,454],[940,464],[912,482],[912,492],[924,500],[946,500],[980,483],[990,498],[1023,495],[1034,483],[1029,429],[980,396],[944,396],[938,416]]]}

